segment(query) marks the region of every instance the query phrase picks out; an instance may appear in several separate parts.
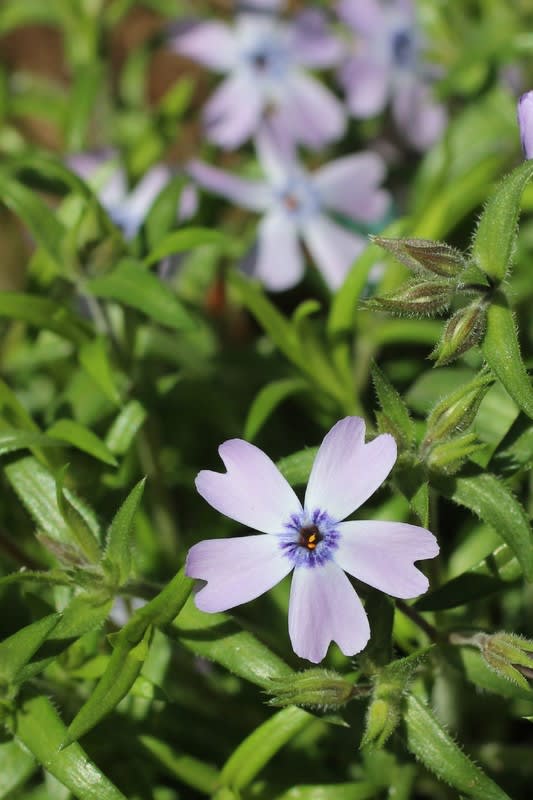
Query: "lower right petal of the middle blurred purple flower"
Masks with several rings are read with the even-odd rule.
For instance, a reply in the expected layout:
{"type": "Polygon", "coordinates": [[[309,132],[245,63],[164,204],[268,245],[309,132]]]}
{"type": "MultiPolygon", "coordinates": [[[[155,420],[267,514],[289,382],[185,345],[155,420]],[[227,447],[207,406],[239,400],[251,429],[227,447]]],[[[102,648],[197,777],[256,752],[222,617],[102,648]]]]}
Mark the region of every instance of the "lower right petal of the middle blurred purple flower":
{"type": "Polygon", "coordinates": [[[302,225],[302,237],[332,291],[342,286],[367,245],[362,236],[341,228],[324,214],[316,214],[302,225]]]}

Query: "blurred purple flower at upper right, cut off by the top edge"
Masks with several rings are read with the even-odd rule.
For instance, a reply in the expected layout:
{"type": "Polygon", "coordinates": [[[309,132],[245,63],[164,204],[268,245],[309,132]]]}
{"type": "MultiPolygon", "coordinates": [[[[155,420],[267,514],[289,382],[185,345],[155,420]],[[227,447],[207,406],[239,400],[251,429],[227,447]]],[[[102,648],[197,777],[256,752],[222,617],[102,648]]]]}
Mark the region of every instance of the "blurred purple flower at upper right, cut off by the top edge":
{"type": "Polygon", "coordinates": [[[419,150],[430,147],[447,115],[432,95],[436,70],[423,61],[411,0],[339,0],[337,11],[358,37],[340,71],[353,116],[379,114],[390,100],[406,139],[419,150]]]}

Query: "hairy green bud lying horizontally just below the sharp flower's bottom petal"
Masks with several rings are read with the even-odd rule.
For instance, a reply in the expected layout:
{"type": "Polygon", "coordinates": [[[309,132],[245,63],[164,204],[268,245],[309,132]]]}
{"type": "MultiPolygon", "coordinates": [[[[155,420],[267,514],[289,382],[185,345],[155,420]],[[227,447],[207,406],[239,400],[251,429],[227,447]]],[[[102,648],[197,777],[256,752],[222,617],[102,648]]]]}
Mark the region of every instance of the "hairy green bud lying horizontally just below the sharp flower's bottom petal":
{"type": "Polygon", "coordinates": [[[342,675],[324,669],[308,669],[292,678],[273,680],[269,694],[271,706],[309,706],[311,708],[339,708],[355,696],[355,687],[342,675]]]}

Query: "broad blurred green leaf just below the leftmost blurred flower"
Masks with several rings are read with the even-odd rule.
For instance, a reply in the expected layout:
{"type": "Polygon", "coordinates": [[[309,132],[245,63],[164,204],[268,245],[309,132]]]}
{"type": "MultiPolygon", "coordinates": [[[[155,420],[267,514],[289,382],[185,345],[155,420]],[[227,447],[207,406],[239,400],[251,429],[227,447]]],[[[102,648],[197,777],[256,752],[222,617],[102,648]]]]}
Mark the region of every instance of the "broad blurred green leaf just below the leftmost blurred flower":
{"type": "Polygon", "coordinates": [[[87,287],[96,297],[117,300],[174,330],[195,328],[172,290],[136,261],[121,261],[112,272],[89,281],[87,287]]]}

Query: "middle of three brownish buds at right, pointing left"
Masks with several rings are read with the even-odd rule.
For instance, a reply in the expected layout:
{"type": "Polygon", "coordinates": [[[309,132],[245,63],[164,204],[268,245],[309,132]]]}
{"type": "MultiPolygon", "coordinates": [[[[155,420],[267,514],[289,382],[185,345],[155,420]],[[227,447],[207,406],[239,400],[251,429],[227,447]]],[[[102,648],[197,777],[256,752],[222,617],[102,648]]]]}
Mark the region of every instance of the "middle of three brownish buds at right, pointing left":
{"type": "Polygon", "coordinates": [[[402,316],[432,316],[449,307],[454,292],[448,281],[409,283],[391,294],[373,297],[367,306],[402,316]]]}

